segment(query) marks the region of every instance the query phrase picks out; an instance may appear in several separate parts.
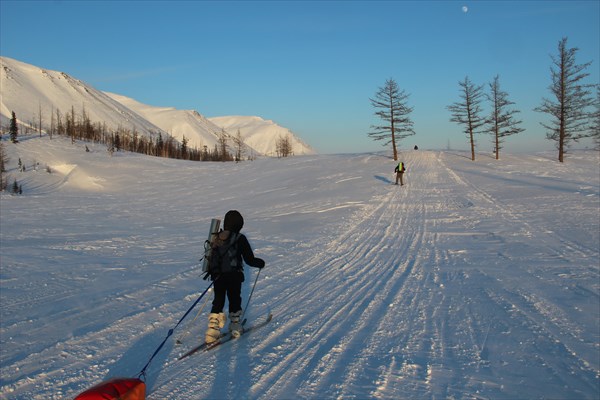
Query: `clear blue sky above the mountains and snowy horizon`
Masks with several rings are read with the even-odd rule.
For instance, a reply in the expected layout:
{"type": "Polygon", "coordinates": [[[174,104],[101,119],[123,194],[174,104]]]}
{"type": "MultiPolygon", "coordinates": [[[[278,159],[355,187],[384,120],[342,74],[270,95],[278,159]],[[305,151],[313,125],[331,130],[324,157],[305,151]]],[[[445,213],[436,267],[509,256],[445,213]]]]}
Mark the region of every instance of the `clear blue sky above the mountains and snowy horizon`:
{"type": "Polygon", "coordinates": [[[446,106],[465,76],[487,90],[495,75],[526,128],[505,149],[553,149],[532,110],[563,37],[599,83],[598,0],[0,0],[2,56],[154,106],[271,119],[321,153],[383,149],[369,98],[388,78],[414,107],[402,149],[467,149],[446,106]]]}

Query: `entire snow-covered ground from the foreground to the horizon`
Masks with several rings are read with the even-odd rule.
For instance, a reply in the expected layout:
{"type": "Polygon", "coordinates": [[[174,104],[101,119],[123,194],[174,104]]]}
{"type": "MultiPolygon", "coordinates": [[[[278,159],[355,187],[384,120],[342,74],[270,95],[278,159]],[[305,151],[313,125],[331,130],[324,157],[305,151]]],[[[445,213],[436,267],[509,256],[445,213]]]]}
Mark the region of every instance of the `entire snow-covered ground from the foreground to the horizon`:
{"type": "Polygon", "coordinates": [[[2,399],[136,376],[207,287],[202,245],[229,209],[267,261],[249,319],[274,319],[177,361],[203,336],[201,301],[148,368],[148,399],[600,395],[598,152],[405,151],[400,187],[384,154],[195,163],[5,144],[24,194],[1,195],[2,399]]]}

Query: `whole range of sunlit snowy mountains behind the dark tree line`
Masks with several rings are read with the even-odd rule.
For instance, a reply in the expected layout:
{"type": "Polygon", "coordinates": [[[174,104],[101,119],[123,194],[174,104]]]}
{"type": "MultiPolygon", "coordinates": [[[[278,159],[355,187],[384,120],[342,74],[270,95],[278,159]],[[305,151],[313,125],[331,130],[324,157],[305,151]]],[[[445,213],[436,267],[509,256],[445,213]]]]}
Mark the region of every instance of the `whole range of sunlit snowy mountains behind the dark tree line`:
{"type": "Polygon", "coordinates": [[[254,155],[276,154],[277,140],[284,136],[290,139],[294,154],[316,153],[289,129],[260,117],[208,119],[194,110],[151,106],[120,94],[102,92],[64,72],[11,58],[0,57],[0,65],[3,125],[14,111],[24,126],[37,127],[41,113],[44,130],[57,110],[63,116],[73,110],[77,118],[85,112],[93,123],[104,123],[109,130],[123,128],[151,137],[169,134],[178,141],[185,136],[190,147],[199,149],[212,148],[223,129],[230,136],[235,136],[239,129],[247,152],[254,155]]]}

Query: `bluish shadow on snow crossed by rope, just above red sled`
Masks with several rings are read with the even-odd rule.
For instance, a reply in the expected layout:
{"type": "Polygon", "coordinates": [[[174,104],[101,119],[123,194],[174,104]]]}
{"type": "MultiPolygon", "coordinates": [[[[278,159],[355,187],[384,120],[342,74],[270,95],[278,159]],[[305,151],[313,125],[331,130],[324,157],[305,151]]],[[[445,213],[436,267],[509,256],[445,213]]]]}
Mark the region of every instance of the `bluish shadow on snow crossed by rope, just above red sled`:
{"type": "MultiPolygon", "coordinates": [[[[136,378],[167,334],[166,331],[156,330],[143,336],[110,367],[104,379],[136,378]]],[[[170,337],[146,369],[146,393],[152,392],[152,388],[160,375],[161,366],[165,364],[172,349],[173,337],[170,337]]],[[[142,377],[142,380],[144,380],[144,377],[142,377]]]]}

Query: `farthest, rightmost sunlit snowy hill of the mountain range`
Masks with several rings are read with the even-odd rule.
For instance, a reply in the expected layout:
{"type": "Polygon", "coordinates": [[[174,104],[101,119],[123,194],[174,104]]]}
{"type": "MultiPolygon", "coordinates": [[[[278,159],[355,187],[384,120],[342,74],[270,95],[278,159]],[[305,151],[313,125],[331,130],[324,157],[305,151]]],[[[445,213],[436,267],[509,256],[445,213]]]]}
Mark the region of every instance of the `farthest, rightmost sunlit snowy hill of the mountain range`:
{"type": "Polygon", "coordinates": [[[214,117],[209,120],[231,134],[235,134],[239,130],[246,144],[261,154],[275,155],[277,140],[286,137],[290,139],[295,155],[316,154],[312,147],[304,143],[292,131],[270,120],[244,116],[214,117]]]}

